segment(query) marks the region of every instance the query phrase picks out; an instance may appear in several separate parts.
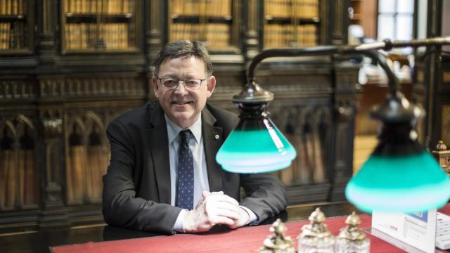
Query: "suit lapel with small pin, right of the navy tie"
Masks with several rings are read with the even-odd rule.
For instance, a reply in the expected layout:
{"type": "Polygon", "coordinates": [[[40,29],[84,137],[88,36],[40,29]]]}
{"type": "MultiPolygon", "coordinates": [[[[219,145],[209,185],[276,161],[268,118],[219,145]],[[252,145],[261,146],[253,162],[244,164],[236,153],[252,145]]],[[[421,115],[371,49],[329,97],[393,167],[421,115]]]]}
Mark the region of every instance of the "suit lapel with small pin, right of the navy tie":
{"type": "Polygon", "coordinates": [[[216,154],[224,140],[222,139],[222,129],[214,126],[215,122],[214,116],[205,108],[202,112],[202,134],[210,191],[222,189],[221,167],[216,162],[216,154]]]}

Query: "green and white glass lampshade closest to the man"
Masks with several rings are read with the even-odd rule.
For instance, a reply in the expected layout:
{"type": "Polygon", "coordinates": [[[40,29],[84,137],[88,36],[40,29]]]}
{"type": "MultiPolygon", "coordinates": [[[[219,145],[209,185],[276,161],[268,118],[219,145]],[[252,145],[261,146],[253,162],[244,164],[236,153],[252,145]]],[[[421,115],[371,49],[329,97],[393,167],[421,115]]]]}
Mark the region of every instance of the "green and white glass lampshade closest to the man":
{"type": "Polygon", "coordinates": [[[234,173],[284,169],[297,156],[295,149],[267,117],[241,119],[219,149],[216,160],[234,173]]]}

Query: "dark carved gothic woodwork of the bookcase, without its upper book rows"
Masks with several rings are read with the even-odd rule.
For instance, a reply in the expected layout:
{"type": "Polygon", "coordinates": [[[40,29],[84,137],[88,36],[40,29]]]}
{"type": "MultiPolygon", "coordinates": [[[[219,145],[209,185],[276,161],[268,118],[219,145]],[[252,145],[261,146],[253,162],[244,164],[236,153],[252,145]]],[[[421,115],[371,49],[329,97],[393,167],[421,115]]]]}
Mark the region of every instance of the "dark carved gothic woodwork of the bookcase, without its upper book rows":
{"type": "MultiPolygon", "coordinates": [[[[0,232],[103,222],[105,129],[155,99],[151,67],[169,40],[169,1],[133,1],[136,15],[110,16],[108,22],[131,24],[136,44],[129,51],[65,50],[65,21],[90,24],[95,14],[63,13],[69,1],[26,1],[27,47],[0,51],[0,232]]],[[[263,2],[231,0],[231,20],[222,17],[231,47],[211,52],[217,86],[209,100],[220,108],[237,112],[231,97],[264,46],[263,2]]],[[[342,44],[346,26],[336,18],[346,19],[346,1],[319,2],[318,43],[342,44]]],[[[271,118],[297,150],[291,167],[278,172],[291,204],[328,201],[330,192],[342,197],[335,183],[352,171],[356,75],[336,68],[333,58],[309,57],[264,62],[257,72],[259,84],[275,93],[271,118]]]]}

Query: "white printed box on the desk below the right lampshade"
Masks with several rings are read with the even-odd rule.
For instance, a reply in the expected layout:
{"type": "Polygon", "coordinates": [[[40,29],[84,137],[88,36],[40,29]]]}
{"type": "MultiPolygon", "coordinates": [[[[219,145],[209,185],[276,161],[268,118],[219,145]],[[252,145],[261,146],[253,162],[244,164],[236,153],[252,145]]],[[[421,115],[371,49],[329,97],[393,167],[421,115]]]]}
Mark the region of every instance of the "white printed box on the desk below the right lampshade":
{"type": "Polygon", "coordinates": [[[415,214],[373,212],[372,234],[407,252],[435,252],[436,217],[437,209],[415,214]]]}

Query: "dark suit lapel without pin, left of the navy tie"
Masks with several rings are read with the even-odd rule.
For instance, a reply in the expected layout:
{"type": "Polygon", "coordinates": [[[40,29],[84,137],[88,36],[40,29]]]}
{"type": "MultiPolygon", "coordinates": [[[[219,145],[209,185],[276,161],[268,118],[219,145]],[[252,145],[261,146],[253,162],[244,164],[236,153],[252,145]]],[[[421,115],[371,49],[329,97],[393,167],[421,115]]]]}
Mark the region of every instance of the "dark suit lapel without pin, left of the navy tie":
{"type": "Polygon", "coordinates": [[[155,169],[155,183],[158,187],[160,202],[170,205],[169,144],[167,142],[167,126],[164,112],[160,105],[157,105],[153,110],[149,108],[149,113],[148,146],[150,147],[150,155],[155,169]]]}

